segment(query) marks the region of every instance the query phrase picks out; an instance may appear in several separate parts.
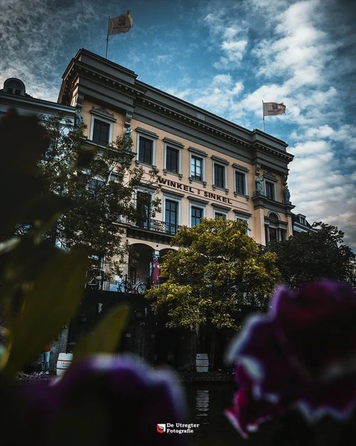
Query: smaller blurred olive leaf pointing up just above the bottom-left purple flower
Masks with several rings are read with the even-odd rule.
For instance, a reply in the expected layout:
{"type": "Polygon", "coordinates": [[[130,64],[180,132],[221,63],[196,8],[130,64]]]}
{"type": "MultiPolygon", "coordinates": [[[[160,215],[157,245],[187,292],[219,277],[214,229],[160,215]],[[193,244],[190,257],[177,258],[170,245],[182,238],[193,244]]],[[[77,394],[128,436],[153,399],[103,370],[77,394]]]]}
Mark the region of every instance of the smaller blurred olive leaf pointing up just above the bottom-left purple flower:
{"type": "Polygon", "coordinates": [[[114,308],[95,327],[92,333],[83,335],[75,346],[73,363],[86,355],[95,353],[114,353],[125,328],[127,305],[114,308]]]}

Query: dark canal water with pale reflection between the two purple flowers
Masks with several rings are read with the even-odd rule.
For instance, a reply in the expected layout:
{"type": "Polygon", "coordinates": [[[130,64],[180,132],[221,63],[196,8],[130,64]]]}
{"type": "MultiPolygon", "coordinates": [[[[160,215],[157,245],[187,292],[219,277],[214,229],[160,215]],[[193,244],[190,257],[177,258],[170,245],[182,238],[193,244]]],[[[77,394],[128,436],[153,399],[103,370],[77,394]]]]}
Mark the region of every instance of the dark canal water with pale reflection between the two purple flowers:
{"type": "Polygon", "coordinates": [[[234,397],[234,383],[187,383],[184,388],[189,407],[188,422],[199,423],[193,434],[186,434],[189,446],[246,446],[224,415],[234,397]]]}

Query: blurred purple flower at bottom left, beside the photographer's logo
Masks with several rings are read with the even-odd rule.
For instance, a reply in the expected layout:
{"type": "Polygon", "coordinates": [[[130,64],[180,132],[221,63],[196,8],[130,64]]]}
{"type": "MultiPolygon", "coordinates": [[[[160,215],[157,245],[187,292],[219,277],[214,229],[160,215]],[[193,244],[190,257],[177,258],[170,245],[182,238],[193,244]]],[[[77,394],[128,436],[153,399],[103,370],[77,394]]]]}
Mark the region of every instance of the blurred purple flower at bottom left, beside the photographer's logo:
{"type": "Polygon", "coordinates": [[[182,390],[169,372],[133,358],[88,357],[54,382],[27,390],[33,445],[64,438],[78,446],[185,444],[187,435],[157,432],[157,423],[185,422],[182,390]]]}

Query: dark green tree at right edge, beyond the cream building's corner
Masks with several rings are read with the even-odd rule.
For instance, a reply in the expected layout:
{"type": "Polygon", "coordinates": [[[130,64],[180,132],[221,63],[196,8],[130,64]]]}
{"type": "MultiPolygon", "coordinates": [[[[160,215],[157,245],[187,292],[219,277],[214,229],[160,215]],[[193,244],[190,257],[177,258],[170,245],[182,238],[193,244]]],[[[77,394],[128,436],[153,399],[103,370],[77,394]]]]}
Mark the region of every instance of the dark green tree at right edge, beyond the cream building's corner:
{"type": "Polygon", "coordinates": [[[313,223],[315,232],[296,233],[268,246],[278,255],[282,278],[292,288],[320,278],[355,284],[355,254],[343,244],[344,233],[337,226],[313,223]]]}

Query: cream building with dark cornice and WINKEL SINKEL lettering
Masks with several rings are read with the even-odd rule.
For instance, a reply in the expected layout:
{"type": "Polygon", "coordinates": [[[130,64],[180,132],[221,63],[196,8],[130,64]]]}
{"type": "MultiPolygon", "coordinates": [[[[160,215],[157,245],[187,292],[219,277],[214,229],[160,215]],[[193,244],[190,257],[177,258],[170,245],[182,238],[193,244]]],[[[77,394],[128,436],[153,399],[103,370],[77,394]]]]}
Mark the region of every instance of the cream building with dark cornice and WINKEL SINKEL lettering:
{"type": "Polygon", "coordinates": [[[127,223],[126,238],[140,254],[136,270],[147,280],[152,256],[170,247],[182,225],[224,217],[248,223],[260,245],[293,234],[287,185],[293,155],[287,144],[137,80],[137,74],[80,49],[63,74],[58,102],[75,106],[87,124],[88,143],[106,146],[131,131],[133,163],[157,166],[162,189],[137,189],[133,197],[159,194],[162,212],[127,223]]]}

